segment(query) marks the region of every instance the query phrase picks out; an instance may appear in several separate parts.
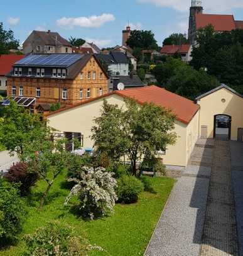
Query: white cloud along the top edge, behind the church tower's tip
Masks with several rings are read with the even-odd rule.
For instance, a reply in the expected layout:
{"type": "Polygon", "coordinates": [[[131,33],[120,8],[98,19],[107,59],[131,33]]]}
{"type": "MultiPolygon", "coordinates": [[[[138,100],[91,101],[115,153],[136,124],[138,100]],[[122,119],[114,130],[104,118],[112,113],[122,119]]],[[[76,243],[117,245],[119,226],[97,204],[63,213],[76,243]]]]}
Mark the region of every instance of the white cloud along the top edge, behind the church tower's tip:
{"type": "MultiPolygon", "coordinates": [[[[177,11],[188,11],[190,8],[190,0],[137,0],[138,3],[151,3],[156,6],[169,7],[177,11]],[[185,3],[186,2],[186,3],[185,3]]],[[[243,8],[242,0],[203,0],[203,8],[205,11],[217,13],[230,12],[235,8],[243,8]]]]}

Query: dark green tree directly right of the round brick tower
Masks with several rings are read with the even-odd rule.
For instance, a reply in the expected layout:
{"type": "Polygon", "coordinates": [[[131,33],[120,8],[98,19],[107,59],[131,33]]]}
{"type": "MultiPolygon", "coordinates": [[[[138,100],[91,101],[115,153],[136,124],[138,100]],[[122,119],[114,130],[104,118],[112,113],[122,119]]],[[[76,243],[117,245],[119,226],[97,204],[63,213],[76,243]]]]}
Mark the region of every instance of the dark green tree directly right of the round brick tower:
{"type": "Polygon", "coordinates": [[[151,30],[133,30],[131,36],[127,40],[127,45],[133,48],[141,48],[143,50],[158,50],[157,42],[151,30]]]}

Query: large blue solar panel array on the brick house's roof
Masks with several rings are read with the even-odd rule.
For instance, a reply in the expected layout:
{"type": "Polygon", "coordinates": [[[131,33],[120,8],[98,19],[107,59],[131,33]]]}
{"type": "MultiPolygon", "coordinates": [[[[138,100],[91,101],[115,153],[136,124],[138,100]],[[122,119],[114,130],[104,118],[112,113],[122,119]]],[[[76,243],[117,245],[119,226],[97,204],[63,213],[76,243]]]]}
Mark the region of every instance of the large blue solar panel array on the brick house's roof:
{"type": "Polygon", "coordinates": [[[84,55],[78,53],[69,54],[50,54],[50,55],[28,55],[22,58],[15,65],[33,65],[33,66],[58,66],[69,67],[80,60],[84,55]]]}

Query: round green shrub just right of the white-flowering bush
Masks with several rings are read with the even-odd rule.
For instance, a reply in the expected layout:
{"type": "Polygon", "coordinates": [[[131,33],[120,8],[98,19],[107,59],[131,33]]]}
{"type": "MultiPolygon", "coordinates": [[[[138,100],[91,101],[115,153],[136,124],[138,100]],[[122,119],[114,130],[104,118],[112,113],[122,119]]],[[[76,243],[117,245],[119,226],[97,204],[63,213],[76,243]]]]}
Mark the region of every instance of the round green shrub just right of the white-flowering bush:
{"type": "Polygon", "coordinates": [[[117,180],[117,196],[120,203],[136,203],[143,190],[143,182],[134,176],[123,175],[117,180]]]}

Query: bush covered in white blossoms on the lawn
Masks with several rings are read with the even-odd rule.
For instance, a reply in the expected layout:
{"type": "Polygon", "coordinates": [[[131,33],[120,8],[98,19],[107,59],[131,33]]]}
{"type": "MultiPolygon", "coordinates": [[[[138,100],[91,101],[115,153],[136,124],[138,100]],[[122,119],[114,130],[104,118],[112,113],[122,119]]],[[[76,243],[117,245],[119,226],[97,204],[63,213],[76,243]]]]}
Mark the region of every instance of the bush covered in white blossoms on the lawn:
{"type": "Polygon", "coordinates": [[[76,182],[70,194],[65,200],[65,205],[72,198],[78,196],[80,199],[80,211],[85,217],[93,220],[113,211],[117,201],[116,179],[111,172],[105,172],[104,168],[83,168],[79,179],[68,179],[76,182]]]}

